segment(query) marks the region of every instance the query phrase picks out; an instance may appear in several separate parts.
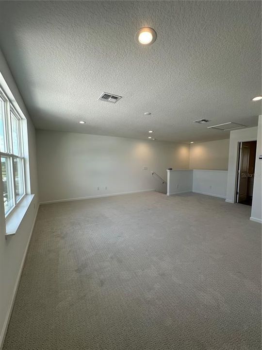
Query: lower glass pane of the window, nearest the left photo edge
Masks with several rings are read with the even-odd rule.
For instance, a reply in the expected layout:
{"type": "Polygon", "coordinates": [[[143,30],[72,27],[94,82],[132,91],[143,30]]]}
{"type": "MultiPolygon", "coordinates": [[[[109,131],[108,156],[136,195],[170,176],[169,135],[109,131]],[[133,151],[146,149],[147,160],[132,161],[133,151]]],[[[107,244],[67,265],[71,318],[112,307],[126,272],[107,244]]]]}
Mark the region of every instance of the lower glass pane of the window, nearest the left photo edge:
{"type": "Polygon", "coordinates": [[[14,206],[12,192],[12,173],[11,173],[11,158],[1,157],[2,165],[2,180],[3,180],[3,197],[4,197],[4,212],[10,211],[14,206]]]}

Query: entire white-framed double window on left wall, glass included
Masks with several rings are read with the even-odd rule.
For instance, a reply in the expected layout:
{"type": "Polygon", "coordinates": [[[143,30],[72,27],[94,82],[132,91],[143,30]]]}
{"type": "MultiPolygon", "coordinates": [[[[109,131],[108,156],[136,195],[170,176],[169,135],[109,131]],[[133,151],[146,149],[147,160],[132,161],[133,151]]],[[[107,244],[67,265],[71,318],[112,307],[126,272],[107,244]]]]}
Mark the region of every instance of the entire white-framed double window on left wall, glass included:
{"type": "Polygon", "coordinates": [[[22,119],[0,90],[0,157],[5,216],[25,194],[22,119]]]}

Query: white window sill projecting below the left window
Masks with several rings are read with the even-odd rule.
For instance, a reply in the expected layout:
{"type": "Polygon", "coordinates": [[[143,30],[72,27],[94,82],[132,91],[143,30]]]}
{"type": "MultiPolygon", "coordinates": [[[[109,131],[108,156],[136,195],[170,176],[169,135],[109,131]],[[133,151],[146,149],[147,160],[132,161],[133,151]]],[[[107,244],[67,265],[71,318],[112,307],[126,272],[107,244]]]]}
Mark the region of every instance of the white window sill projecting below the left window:
{"type": "Polygon", "coordinates": [[[15,210],[6,219],[5,236],[12,236],[16,234],[30,204],[32,203],[34,194],[26,194],[23,199],[17,204],[15,210]]]}

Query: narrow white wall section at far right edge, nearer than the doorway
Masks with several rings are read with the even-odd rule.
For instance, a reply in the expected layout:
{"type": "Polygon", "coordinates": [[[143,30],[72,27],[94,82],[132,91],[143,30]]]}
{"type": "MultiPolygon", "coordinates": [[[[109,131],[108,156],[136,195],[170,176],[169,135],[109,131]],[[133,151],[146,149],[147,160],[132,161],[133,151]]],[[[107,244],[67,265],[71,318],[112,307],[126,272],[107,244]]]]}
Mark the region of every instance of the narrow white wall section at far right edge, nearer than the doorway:
{"type": "Polygon", "coordinates": [[[262,223],[262,115],[259,116],[254,190],[250,220],[262,223]]]}

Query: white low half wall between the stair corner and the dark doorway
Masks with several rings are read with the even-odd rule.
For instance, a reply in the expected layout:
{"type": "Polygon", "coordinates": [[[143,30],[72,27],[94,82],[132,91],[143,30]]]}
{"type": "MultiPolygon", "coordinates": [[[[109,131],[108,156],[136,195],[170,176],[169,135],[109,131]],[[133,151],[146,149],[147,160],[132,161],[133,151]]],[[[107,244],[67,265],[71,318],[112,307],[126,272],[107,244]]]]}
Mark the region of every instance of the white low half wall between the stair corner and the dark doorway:
{"type": "Polygon", "coordinates": [[[226,170],[193,170],[193,192],[226,198],[226,170]]]}

